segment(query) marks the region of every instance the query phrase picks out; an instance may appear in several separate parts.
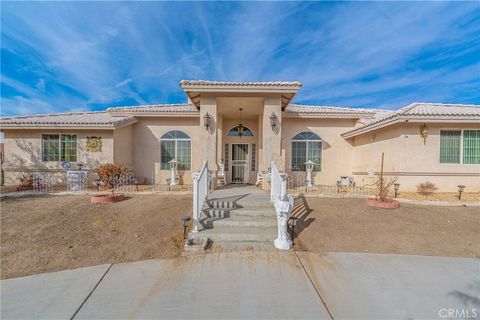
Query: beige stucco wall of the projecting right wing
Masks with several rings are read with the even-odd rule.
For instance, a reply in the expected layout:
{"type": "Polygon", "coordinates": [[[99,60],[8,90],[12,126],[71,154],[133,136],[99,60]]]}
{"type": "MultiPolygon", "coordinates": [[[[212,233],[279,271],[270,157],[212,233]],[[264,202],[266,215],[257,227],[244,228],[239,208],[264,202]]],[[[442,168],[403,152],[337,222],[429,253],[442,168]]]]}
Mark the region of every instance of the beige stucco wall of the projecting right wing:
{"type": "Polygon", "coordinates": [[[441,129],[480,129],[478,124],[427,123],[428,138],[419,132],[423,123],[402,123],[349,139],[354,145],[352,172],[359,183],[368,183],[368,171],[380,171],[381,154],[385,153],[384,171],[398,176],[401,190],[415,191],[420,182],[431,181],[439,191],[456,191],[457,185],[466,191],[479,191],[480,165],[441,164],[441,129]]]}

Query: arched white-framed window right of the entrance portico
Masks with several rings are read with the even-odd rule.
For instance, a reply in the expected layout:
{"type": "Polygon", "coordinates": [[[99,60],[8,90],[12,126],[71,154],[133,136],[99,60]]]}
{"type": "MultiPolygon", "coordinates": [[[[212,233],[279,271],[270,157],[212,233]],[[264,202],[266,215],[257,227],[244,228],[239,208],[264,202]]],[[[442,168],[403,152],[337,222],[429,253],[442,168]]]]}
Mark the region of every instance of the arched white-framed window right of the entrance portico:
{"type": "Polygon", "coordinates": [[[292,171],[305,171],[308,160],[315,162],[313,171],[322,170],[322,139],[306,131],[292,138],[292,171]]]}

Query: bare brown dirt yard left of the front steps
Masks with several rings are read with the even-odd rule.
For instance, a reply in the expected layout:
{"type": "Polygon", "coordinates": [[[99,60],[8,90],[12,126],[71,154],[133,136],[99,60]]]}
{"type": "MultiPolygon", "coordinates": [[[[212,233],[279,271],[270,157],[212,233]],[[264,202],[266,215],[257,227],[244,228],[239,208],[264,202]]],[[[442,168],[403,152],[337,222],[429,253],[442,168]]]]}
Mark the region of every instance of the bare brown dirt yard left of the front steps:
{"type": "Polygon", "coordinates": [[[3,198],[1,278],[104,263],[171,258],[183,249],[180,218],[191,196],[136,195],[113,204],[89,196],[3,198]]]}

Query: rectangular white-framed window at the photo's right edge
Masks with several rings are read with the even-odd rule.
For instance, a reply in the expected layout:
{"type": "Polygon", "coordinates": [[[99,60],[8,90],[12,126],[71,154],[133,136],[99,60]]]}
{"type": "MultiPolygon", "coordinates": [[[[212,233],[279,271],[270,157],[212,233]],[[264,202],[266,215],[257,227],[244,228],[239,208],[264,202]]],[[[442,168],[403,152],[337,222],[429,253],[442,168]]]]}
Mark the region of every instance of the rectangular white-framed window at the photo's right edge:
{"type": "Polygon", "coordinates": [[[440,130],[440,163],[480,164],[480,130],[440,130]]]}

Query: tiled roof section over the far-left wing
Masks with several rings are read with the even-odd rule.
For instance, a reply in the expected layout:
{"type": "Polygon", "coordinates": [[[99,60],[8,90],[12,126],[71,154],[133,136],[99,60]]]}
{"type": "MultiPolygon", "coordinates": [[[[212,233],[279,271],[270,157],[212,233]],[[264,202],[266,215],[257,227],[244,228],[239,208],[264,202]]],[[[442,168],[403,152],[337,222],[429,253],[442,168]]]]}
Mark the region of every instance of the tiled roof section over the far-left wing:
{"type": "Polygon", "coordinates": [[[114,117],[108,112],[71,112],[0,118],[2,128],[99,128],[114,129],[136,122],[132,116],[114,117]]]}

